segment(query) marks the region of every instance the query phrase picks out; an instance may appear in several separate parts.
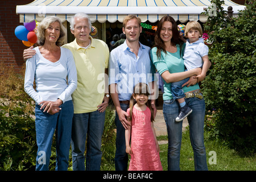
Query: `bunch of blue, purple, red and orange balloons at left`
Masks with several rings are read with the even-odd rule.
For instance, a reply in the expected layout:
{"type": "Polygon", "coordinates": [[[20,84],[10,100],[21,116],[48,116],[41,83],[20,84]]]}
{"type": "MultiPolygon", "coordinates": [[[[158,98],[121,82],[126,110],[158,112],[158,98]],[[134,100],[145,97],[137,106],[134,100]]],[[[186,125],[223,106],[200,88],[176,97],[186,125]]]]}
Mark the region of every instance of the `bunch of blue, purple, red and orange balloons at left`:
{"type": "Polygon", "coordinates": [[[36,20],[33,20],[32,22],[24,22],[23,24],[24,26],[19,25],[15,28],[15,35],[19,40],[22,40],[24,46],[33,46],[38,40],[36,36],[36,26],[38,23],[36,23],[36,20]]]}

